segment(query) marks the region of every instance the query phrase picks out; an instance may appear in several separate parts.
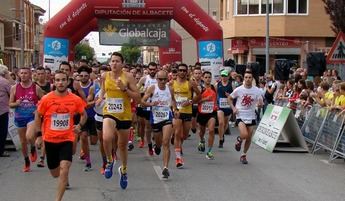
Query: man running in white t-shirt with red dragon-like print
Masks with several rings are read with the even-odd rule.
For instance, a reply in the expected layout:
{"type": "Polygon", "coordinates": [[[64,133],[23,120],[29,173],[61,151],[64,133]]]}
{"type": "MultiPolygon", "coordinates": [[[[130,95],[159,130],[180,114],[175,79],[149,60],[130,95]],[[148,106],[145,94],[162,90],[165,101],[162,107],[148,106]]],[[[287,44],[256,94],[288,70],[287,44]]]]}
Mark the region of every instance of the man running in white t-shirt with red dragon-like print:
{"type": "Polygon", "coordinates": [[[236,88],[229,96],[230,106],[236,114],[236,122],[240,131],[240,136],[237,137],[235,144],[236,151],[241,151],[242,141],[245,140],[243,154],[240,161],[243,164],[248,164],[247,151],[250,147],[253,126],[256,125],[255,107],[262,107],[262,93],[259,88],[252,86],[253,74],[248,69],[244,73],[243,85],[236,88]],[[233,105],[233,99],[237,98],[236,107],[233,105]]]}

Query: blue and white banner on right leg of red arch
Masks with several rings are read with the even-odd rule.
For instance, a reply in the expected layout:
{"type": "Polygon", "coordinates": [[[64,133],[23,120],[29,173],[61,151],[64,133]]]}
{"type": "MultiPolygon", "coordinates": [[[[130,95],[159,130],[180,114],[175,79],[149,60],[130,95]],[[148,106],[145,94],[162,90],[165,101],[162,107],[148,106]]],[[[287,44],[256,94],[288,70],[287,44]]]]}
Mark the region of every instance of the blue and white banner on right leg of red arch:
{"type": "Polygon", "coordinates": [[[199,41],[199,62],[205,71],[212,73],[212,80],[219,79],[219,69],[223,67],[223,42],[199,41]]]}

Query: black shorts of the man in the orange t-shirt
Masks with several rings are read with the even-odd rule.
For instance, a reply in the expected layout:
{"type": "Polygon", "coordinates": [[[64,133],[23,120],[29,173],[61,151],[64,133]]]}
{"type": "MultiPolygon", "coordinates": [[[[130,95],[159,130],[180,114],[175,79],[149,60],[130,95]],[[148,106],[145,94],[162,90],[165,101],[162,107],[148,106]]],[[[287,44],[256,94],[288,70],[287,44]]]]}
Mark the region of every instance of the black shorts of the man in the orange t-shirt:
{"type": "Polygon", "coordinates": [[[60,166],[61,161],[72,162],[73,142],[60,143],[44,142],[47,154],[47,164],[50,170],[60,166]]]}

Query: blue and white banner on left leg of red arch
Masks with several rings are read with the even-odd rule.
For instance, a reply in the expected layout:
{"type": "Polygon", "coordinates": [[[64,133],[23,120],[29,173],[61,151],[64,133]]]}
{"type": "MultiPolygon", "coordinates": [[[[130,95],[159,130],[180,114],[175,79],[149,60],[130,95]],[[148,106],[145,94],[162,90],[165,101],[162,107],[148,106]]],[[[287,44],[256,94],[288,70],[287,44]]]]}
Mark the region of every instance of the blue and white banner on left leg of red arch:
{"type": "Polygon", "coordinates": [[[44,39],[44,67],[50,68],[52,72],[58,70],[60,63],[68,60],[68,45],[67,39],[46,37],[44,39]]]}

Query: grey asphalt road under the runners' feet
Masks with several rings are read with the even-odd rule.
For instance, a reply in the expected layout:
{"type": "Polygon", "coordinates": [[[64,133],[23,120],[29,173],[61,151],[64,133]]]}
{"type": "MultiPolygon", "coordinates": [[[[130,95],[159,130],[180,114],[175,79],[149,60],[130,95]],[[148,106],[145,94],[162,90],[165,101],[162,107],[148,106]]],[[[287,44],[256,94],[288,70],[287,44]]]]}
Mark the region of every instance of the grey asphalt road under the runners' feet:
{"type": "MultiPolygon", "coordinates": [[[[215,160],[198,153],[197,138],[184,144],[185,168],[176,169],[172,153],[169,180],[161,180],[162,156],[150,157],[147,148],[129,153],[129,185],[122,190],[118,175],[104,179],[98,146],[91,147],[93,170],[84,172],[84,162],[74,157],[71,189],[66,201],[344,201],[345,163],[328,163],[328,154],[269,153],[252,145],[248,165],[234,149],[237,129],[226,136],[225,147],[214,148],[215,160]]],[[[218,136],[216,141],[218,142],[218,136]]],[[[218,144],[218,143],[217,143],[218,144]]],[[[171,149],[173,150],[173,149],[171,149]]],[[[57,180],[47,168],[32,166],[22,173],[20,152],[0,158],[0,201],[54,200],[57,180]]],[[[118,165],[114,167],[116,172],[118,165]]]]}

